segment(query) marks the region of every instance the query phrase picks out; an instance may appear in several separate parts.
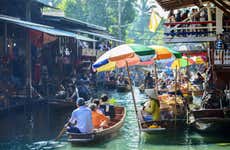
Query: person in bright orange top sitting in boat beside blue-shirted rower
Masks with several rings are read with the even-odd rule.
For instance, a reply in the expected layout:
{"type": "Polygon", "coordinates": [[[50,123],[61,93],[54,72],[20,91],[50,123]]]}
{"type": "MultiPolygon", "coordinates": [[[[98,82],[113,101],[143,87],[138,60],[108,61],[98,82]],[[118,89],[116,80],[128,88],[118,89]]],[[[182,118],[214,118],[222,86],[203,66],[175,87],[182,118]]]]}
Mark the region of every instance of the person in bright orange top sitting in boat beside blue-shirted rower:
{"type": "Polygon", "coordinates": [[[108,127],[109,118],[104,114],[99,113],[96,104],[90,104],[90,109],[92,111],[92,122],[95,129],[108,127]]]}

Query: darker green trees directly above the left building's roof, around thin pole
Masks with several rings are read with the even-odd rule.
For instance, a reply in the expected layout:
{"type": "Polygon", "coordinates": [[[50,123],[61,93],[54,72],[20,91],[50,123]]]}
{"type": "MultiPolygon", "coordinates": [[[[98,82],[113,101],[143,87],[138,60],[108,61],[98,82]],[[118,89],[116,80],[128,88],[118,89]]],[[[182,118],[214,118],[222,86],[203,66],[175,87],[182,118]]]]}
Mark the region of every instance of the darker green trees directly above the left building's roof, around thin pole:
{"type": "MultiPolygon", "coordinates": [[[[126,36],[127,24],[134,21],[137,0],[121,0],[121,26],[123,40],[126,36]]],[[[52,0],[65,12],[67,17],[79,19],[92,24],[104,26],[109,33],[118,36],[118,0],[52,0]]]]}

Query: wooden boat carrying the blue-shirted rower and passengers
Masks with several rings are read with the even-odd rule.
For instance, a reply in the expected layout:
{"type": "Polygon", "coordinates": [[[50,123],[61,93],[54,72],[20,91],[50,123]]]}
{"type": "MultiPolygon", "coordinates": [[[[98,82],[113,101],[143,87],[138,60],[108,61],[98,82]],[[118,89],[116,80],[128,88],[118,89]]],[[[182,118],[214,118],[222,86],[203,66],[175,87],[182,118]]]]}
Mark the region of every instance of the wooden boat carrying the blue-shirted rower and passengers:
{"type": "Polygon", "coordinates": [[[109,122],[109,127],[102,130],[96,130],[93,133],[70,133],[67,132],[68,141],[72,144],[84,144],[88,142],[98,142],[116,135],[123,126],[126,116],[125,107],[115,107],[115,117],[109,122]]]}

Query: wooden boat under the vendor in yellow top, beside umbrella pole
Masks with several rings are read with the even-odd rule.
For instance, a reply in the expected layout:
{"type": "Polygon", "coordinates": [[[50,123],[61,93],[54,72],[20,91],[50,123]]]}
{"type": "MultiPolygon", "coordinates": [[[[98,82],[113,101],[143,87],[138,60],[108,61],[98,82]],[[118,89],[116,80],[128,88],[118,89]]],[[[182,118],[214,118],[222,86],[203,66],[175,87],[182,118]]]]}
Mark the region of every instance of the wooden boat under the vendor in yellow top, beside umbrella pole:
{"type": "Polygon", "coordinates": [[[164,119],[160,121],[145,121],[143,110],[138,110],[138,122],[141,132],[148,134],[169,133],[173,130],[185,128],[185,119],[164,119]]]}

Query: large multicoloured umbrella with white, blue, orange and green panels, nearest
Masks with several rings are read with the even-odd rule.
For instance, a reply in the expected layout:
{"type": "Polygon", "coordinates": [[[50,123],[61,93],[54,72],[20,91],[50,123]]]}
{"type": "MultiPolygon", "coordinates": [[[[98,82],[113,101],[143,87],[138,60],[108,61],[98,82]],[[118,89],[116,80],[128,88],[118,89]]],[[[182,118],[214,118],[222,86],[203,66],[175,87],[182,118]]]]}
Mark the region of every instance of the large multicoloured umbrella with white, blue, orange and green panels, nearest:
{"type": "Polygon", "coordinates": [[[123,44],[104,53],[93,64],[98,72],[110,71],[116,68],[137,65],[140,62],[151,60],[155,57],[153,48],[139,44],[123,44]]]}

